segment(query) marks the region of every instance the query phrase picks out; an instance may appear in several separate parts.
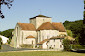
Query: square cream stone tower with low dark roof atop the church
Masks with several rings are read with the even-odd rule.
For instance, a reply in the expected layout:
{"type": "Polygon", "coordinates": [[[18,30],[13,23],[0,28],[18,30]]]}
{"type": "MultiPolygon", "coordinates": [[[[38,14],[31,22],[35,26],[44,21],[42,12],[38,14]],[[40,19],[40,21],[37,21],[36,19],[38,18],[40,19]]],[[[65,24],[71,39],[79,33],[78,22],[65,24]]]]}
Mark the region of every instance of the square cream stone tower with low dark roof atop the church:
{"type": "Polygon", "coordinates": [[[47,16],[44,16],[44,15],[38,15],[38,16],[35,16],[33,18],[30,18],[30,23],[32,23],[35,26],[36,29],[38,27],[40,27],[45,22],[52,23],[51,17],[47,17],[47,16]]]}

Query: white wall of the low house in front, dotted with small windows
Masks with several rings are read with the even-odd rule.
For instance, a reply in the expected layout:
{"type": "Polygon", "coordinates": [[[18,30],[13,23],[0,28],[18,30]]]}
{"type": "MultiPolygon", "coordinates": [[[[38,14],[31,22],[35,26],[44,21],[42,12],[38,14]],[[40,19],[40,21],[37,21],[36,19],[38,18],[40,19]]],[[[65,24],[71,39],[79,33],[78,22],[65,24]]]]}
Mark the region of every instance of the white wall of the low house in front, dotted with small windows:
{"type": "Polygon", "coordinates": [[[44,42],[42,44],[42,48],[43,49],[64,49],[63,45],[62,45],[62,41],[63,39],[51,39],[48,42],[44,42]]]}

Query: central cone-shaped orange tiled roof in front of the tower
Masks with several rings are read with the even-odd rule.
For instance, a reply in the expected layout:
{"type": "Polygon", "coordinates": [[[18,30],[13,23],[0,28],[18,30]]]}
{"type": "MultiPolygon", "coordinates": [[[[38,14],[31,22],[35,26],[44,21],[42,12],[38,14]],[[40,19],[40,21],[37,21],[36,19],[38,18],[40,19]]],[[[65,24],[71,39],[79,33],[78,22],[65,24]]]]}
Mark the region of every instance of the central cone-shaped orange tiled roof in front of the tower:
{"type": "Polygon", "coordinates": [[[56,28],[50,23],[43,23],[37,30],[56,30],[56,28]]]}

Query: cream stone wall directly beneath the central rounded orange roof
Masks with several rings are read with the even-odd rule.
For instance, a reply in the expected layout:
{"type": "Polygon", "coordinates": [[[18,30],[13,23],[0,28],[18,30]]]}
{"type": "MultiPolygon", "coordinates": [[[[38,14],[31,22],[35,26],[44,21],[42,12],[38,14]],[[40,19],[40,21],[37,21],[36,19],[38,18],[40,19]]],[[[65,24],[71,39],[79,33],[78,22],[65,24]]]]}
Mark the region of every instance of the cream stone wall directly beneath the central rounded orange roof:
{"type": "Polygon", "coordinates": [[[38,31],[38,43],[45,40],[49,39],[53,36],[58,36],[59,31],[57,30],[40,30],[38,31]]]}

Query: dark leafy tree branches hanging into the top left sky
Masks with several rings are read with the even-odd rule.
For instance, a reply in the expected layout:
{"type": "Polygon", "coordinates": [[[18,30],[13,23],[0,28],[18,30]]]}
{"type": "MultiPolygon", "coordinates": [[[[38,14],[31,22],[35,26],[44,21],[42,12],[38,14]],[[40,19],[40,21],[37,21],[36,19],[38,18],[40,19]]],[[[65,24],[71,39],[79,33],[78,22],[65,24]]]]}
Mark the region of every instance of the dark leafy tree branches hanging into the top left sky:
{"type": "Polygon", "coordinates": [[[7,5],[7,7],[10,9],[10,7],[12,6],[12,2],[13,2],[14,0],[0,0],[0,17],[3,19],[4,18],[4,15],[3,15],[3,13],[2,13],[2,10],[1,10],[1,5],[7,5]]]}

